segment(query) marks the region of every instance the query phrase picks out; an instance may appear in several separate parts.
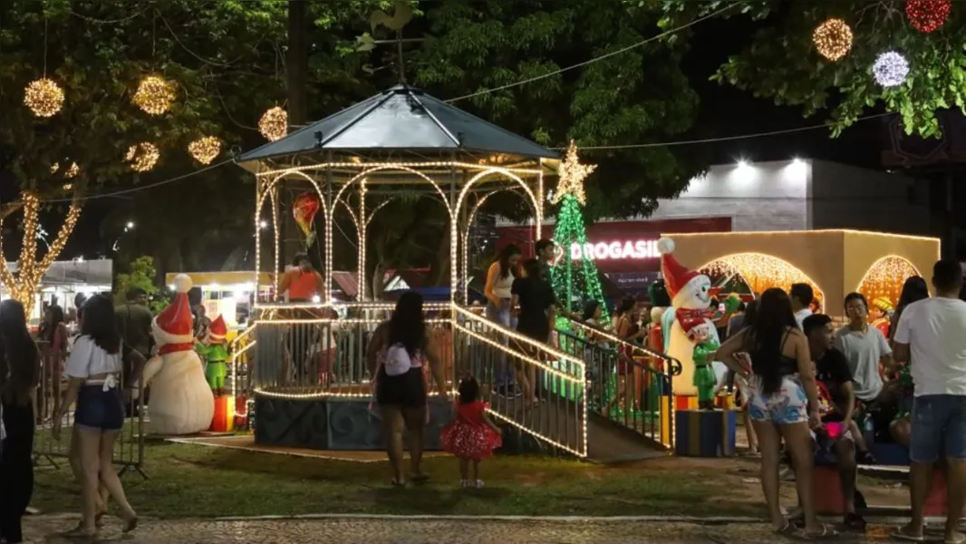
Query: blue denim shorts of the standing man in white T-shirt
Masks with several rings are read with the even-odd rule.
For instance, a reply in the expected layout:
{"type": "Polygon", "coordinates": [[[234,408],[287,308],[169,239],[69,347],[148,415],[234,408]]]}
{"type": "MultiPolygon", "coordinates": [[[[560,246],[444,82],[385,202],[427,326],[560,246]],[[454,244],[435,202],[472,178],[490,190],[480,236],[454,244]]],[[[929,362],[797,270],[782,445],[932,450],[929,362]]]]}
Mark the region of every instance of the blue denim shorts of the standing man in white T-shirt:
{"type": "Polygon", "coordinates": [[[946,443],[946,457],[966,459],[966,396],[922,395],[912,405],[909,458],[935,463],[946,443]]]}

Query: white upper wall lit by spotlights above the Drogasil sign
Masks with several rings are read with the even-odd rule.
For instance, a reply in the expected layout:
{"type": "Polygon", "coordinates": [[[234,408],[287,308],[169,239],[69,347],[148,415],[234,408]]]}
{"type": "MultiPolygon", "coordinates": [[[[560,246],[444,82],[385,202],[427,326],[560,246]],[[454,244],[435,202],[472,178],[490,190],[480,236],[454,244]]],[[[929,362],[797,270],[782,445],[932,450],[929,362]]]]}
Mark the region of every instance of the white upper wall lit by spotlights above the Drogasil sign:
{"type": "Polygon", "coordinates": [[[730,216],[736,231],[810,228],[811,161],[718,164],[675,199],[661,199],[654,219],[730,216]]]}

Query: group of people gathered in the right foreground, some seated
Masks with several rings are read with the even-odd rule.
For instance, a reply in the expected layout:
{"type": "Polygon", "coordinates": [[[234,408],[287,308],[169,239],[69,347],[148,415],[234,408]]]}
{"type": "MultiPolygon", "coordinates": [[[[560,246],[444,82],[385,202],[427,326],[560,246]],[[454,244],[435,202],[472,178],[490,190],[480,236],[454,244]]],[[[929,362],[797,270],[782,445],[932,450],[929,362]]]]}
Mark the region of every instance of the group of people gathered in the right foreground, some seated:
{"type": "Polygon", "coordinates": [[[941,260],[932,274],[934,296],[922,277],[906,280],[888,334],[869,323],[860,293],[843,301],[847,323],[812,313],[808,285],[790,293],[769,289],[755,301],[753,318],[722,345],[717,358],[738,375],[739,389],[760,450],[761,482],[775,530],[804,529],[811,538],[835,534],[815,515],[811,470],[816,459],[838,466],[844,525],[865,527],[856,514],[856,473],[873,462],[869,429],[888,428],[909,447],[912,521],[895,538],[923,540],[923,508],[932,469],[947,470],[951,513],[945,541],[962,543],[957,530],[966,506],[966,301],[962,271],[941,260]],[[859,425],[862,421],[863,425],[859,425]],[[785,518],[779,503],[782,444],[795,472],[801,515],[785,518]]]}

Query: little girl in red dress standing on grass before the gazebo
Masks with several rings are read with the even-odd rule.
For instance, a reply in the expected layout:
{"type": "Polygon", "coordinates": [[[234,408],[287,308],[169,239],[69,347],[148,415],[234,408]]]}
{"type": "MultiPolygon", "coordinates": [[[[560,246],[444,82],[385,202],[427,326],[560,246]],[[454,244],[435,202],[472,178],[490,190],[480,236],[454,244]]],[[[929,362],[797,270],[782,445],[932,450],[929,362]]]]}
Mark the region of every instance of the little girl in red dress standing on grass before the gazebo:
{"type": "Polygon", "coordinates": [[[460,487],[483,487],[480,461],[500,446],[499,427],[486,414],[487,404],[479,400],[480,385],[469,377],[460,382],[460,398],[453,420],[442,429],[442,448],[460,458],[460,487]],[[469,462],[473,479],[469,479],[469,462]],[[475,482],[475,483],[472,483],[475,482]]]}

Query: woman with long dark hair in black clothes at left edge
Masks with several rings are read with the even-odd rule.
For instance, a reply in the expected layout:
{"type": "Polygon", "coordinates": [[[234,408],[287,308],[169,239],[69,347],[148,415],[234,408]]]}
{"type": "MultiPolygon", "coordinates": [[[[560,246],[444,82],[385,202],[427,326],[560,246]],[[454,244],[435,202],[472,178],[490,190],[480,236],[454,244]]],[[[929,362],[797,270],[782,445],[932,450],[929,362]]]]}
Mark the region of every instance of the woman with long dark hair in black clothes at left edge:
{"type": "Polygon", "coordinates": [[[40,355],[23,304],[0,302],[0,540],[22,542],[20,520],[34,491],[34,391],[40,355]]]}

